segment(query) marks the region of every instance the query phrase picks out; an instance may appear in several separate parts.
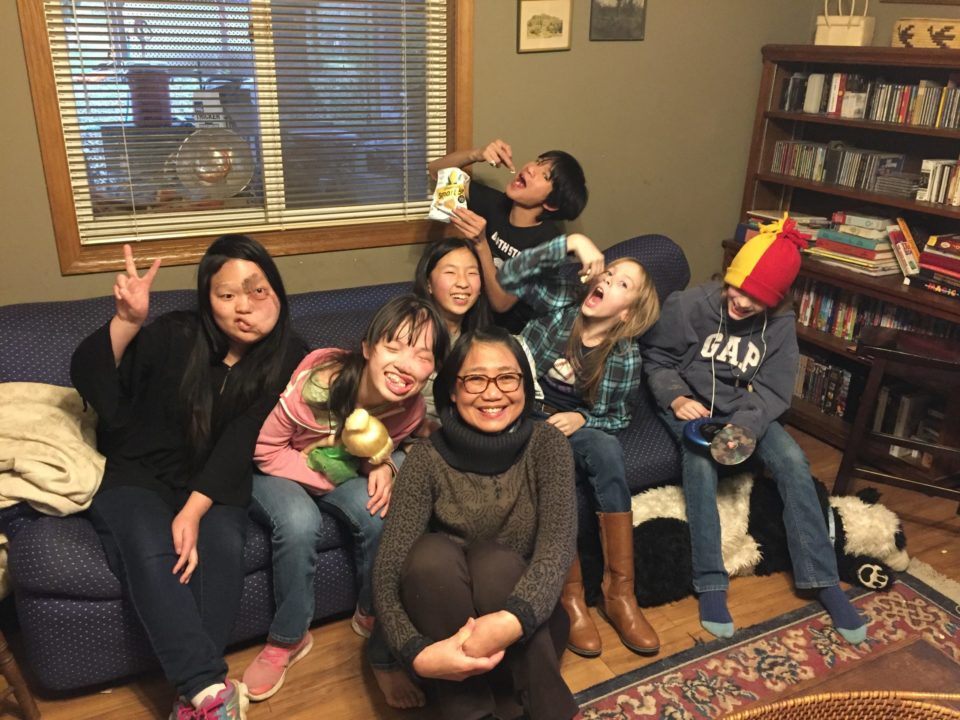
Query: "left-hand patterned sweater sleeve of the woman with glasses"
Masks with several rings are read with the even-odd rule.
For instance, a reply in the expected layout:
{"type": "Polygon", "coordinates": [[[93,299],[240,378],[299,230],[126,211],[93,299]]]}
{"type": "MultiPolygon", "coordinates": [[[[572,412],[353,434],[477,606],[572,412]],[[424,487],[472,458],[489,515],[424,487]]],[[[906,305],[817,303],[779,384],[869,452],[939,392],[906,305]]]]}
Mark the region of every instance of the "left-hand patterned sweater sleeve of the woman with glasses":
{"type": "Polygon", "coordinates": [[[431,466],[436,462],[429,443],[416,443],[400,466],[373,570],[377,622],[390,647],[411,670],[414,658],[432,641],[420,634],[400,601],[400,573],[433,513],[431,466]]]}

